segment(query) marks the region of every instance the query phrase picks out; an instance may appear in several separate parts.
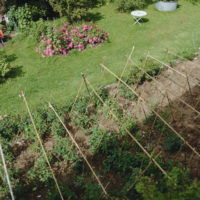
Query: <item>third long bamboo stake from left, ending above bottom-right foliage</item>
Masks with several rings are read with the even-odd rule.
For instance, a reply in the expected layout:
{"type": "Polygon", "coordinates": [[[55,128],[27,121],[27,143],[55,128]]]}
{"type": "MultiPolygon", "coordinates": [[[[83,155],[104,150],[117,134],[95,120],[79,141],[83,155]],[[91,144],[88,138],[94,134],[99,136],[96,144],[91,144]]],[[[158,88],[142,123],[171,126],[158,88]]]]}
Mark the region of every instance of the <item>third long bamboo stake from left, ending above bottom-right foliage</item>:
{"type": "MultiPolygon", "coordinates": [[[[120,80],[120,79],[118,79],[120,80]]],[[[109,113],[114,117],[114,119],[116,120],[116,122],[118,122],[120,124],[121,127],[124,128],[124,130],[127,132],[127,134],[133,139],[133,141],[142,149],[142,151],[149,157],[149,159],[154,162],[154,164],[161,170],[161,172],[167,176],[169,179],[171,179],[167,172],[156,162],[156,160],[154,160],[151,155],[148,153],[148,151],[141,145],[141,143],[130,133],[130,131],[120,122],[120,120],[116,117],[116,115],[112,112],[112,110],[110,109],[110,107],[103,101],[103,99],[97,94],[96,90],[94,89],[94,87],[91,85],[91,83],[88,81],[88,79],[86,79],[88,85],[90,86],[90,88],[92,89],[92,91],[94,92],[94,94],[98,97],[98,99],[103,103],[103,105],[108,109],[109,113]]]]}

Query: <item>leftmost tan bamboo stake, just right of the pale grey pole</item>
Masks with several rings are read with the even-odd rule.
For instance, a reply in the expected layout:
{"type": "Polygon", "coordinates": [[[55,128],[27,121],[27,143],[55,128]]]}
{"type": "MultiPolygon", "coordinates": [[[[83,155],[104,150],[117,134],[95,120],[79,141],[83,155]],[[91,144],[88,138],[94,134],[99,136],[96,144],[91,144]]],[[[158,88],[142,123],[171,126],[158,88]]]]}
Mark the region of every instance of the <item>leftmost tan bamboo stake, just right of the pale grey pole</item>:
{"type": "Polygon", "coordinates": [[[56,179],[56,177],[55,177],[55,175],[54,175],[54,171],[53,171],[53,169],[52,169],[52,167],[51,167],[51,165],[50,165],[50,162],[49,162],[49,159],[48,159],[48,157],[47,157],[46,151],[45,151],[44,146],[43,146],[43,144],[42,144],[42,141],[41,141],[41,139],[40,139],[40,135],[39,135],[39,133],[38,133],[38,131],[37,131],[37,128],[36,128],[35,122],[34,122],[34,120],[33,120],[31,111],[30,111],[30,109],[29,109],[29,106],[28,106],[26,97],[25,97],[25,95],[24,95],[23,93],[21,94],[21,96],[22,96],[23,99],[24,99],[26,108],[27,108],[27,110],[28,110],[28,114],[29,114],[30,119],[31,119],[31,122],[32,122],[32,124],[33,124],[33,128],[34,128],[34,130],[35,130],[35,134],[36,134],[36,136],[37,136],[37,139],[38,139],[38,141],[39,141],[39,144],[40,144],[40,147],[41,147],[42,152],[43,152],[43,154],[44,154],[44,157],[45,157],[46,162],[47,162],[47,164],[48,164],[48,166],[49,166],[49,169],[50,169],[50,171],[51,171],[51,174],[52,174],[52,176],[53,176],[53,179],[54,179],[54,181],[55,181],[55,184],[56,184],[57,190],[58,190],[58,192],[59,192],[60,198],[61,198],[62,200],[64,200],[63,195],[62,195],[61,190],[60,190],[60,187],[59,187],[59,185],[58,185],[58,181],[57,181],[57,179],[56,179]]]}

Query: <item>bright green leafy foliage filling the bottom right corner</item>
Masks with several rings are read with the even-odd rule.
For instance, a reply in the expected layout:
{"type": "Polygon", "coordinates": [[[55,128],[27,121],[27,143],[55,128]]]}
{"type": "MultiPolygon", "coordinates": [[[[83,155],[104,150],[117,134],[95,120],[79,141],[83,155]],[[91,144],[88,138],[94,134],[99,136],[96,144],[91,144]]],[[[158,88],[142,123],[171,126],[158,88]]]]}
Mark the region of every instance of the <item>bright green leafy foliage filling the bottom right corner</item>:
{"type": "Polygon", "coordinates": [[[168,175],[172,178],[171,180],[162,178],[156,181],[151,177],[142,177],[136,186],[136,190],[142,195],[142,199],[200,199],[199,181],[192,181],[187,172],[177,167],[173,167],[168,175]]]}

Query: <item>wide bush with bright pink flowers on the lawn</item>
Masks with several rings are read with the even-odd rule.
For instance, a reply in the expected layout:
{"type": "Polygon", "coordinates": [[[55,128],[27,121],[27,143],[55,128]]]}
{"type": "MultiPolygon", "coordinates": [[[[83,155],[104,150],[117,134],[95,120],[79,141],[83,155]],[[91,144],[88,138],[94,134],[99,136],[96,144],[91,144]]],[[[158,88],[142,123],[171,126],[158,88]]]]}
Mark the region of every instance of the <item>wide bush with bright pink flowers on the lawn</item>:
{"type": "Polygon", "coordinates": [[[67,55],[73,49],[83,51],[86,46],[94,47],[106,40],[108,33],[92,22],[81,27],[64,24],[61,30],[51,27],[45,33],[41,32],[40,45],[36,47],[36,51],[43,58],[56,54],[67,55]]]}

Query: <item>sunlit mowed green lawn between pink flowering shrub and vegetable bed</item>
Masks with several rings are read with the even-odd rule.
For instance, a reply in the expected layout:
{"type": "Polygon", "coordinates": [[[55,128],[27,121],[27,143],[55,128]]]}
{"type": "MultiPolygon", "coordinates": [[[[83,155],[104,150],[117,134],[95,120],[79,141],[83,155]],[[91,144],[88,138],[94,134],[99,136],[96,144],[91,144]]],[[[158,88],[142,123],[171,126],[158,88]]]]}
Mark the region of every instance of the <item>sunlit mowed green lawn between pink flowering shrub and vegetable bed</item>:
{"type": "MultiPolygon", "coordinates": [[[[159,12],[155,5],[145,9],[148,21],[142,26],[133,25],[129,13],[119,13],[113,4],[96,8],[100,13],[96,21],[109,34],[110,42],[81,53],[43,59],[35,52],[30,39],[16,41],[6,49],[17,59],[12,66],[22,66],[22,73],[0,85],[0,115],[20,113],[23,108],[21,91],[25,91],[32,109],[44,106],[48,101],[58,105],[75,97],[81,84],[81,72],[87,73],[94,86],[115,81],[108,73],[101,78],[100,63],[120,74],[133,45],[133,59],[139,61],[149,51],[151,55],[167,61],[164,48],[182,52],[198,48],[200,41],[200,5],[179,0],[174,12],[159,12]]],[[[84,91],[83,91],[84,92],[84,91]]]]}

